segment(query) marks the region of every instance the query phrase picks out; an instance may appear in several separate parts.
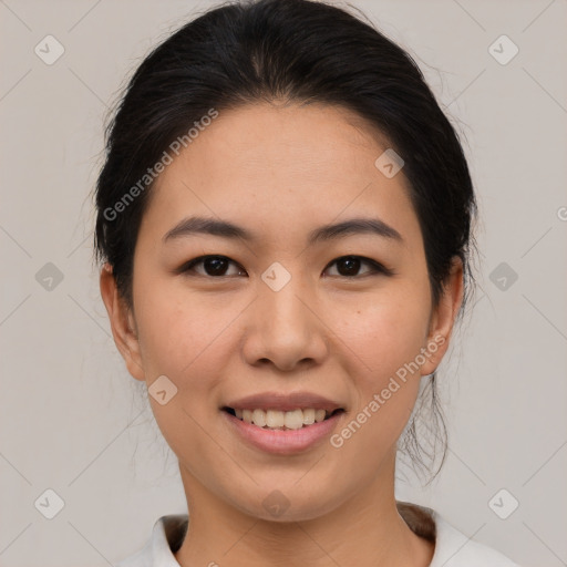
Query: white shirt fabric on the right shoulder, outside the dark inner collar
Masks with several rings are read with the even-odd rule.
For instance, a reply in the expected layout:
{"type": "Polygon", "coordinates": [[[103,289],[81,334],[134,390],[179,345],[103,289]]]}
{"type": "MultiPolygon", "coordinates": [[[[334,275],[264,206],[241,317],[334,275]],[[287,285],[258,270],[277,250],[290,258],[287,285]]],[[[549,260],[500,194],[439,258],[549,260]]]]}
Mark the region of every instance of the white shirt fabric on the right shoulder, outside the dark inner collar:
{"type": "Polygon", "coordinates": [[[496,549],[475,542],[452,526],[436,512],[435,551],[430,567],[519,567],[496,549]]]}

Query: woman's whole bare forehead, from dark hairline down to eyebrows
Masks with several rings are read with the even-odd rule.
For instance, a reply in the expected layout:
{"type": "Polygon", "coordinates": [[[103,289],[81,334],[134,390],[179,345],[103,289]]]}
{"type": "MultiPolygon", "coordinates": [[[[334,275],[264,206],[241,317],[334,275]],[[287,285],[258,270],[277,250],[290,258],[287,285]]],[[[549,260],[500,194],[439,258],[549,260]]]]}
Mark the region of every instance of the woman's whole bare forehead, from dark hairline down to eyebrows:
{"type": "Polygon", "coordinates": [[[403,171],[388,178],[374,165],[388,147],[380,132],[342,107],[262,103],[220,111],[159,175],[143,224],[162,224],[163,235],[199,213],[289,234],[372,215],[408,231],[416,218],[403,171]]]}

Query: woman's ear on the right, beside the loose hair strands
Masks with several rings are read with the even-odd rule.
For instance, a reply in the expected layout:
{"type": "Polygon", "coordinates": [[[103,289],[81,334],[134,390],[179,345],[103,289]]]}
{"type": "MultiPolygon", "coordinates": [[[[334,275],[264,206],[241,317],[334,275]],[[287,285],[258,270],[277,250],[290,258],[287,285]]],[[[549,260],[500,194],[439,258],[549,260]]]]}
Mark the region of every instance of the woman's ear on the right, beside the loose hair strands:
{"type": "Polygon", "coordinates": [[[424,347],[429,355],[421,368],[422,375],[432,374],[449,349],[453,324],[463,301],[463,261],[455,256],[439,305],[431,313],[427,343],[424,347]]]}

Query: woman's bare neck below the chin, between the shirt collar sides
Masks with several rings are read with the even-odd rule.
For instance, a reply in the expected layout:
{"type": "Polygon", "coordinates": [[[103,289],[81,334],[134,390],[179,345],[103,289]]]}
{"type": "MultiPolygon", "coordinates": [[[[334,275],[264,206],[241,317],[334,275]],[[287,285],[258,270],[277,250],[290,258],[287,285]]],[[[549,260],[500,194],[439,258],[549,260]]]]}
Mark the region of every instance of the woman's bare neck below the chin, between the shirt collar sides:
{"type": "Polygon", "coordinates": [[[212,494],[181,465],[185,493],[190,495],[190,520],[175,558],[182,567],[427,567],[434,544],[415,535],[400,515],[394,460],[389,465],[386,478],[379,475],[332,512],[298,522],[269,522],[245,514],[212,494]]]}

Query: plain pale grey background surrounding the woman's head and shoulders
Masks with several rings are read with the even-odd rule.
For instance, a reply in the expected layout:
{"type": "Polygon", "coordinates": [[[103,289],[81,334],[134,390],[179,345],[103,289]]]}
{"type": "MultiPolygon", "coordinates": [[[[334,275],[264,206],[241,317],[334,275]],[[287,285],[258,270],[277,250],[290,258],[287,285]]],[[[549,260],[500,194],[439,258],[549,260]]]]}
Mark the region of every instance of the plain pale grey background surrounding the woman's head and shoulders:
{"type": "MultiPolygon", "coordinates": [[[[482,216],[474,315],[441,367],[447,462],[426,488],[402,463],[396,495],[524,566],[567,565],[567,1],[353,4],[422,68],[482,216]],[[507,64],[489,51],[502,34],[519,49],[507,64]]],[[[157,517],[186,511],[175,455],[110,334],[89,192],[125,78],[209,6],[0,0],[1,566],[113,565],[157,517]],[[64,48],[50,65],[34,52],[48,34],[64,48]],[[64,502],[53,519],[48,488],[64,502]]]]}

